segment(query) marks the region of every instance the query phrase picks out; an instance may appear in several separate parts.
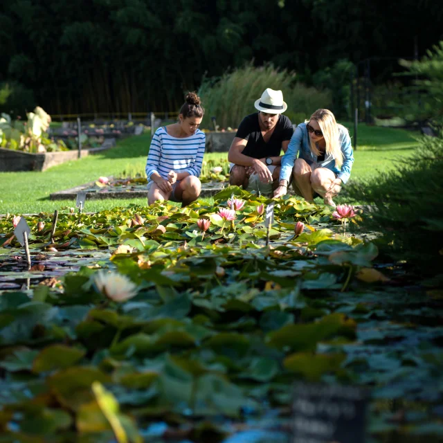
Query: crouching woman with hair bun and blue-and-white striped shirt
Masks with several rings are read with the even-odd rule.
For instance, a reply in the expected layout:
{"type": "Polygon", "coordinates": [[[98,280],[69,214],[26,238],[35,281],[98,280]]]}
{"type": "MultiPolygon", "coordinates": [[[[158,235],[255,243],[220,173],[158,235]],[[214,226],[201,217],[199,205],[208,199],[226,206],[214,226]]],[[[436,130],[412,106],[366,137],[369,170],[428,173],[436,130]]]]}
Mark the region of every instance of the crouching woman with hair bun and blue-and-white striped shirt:
{"type": "Polygon", "coordinates": [[[186,95],[179,121],[159,127],[152,138],[146,162],[148,204],[160,200],[181,201],[188,206],[199,198],[199,175],[206,137],[199,125],[204,109],[195,92],[186,95]]]}

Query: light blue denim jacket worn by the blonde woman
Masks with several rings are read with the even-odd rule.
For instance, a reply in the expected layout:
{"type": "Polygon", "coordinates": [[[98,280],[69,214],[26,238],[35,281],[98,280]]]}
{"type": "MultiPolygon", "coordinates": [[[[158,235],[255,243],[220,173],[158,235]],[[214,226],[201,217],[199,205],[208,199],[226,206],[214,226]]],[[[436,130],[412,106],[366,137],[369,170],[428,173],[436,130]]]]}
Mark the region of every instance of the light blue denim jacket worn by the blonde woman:
{"type": "Polygon", "coordinates": [[[311,145],[309,141],[309,134],[307,133],[306,123],[300,123],[293,132],[291,141],[286,154],[282,156],[282,169],[280,170],[280,180],[287,180],[291,178],[292,168],[296,161],[297,154],[299,159],[306,161],[308,165],[313,163],[318,164],[319,168],[327,168],[332,170],[337,177],[341,179],[343,184],[347,182],[351,175],[352,163],[354,163],[354,155],[352,154],[351,138],[346,129],[338,126],[341,141],[341,152],[343,153],[343,164],[341,170],[336,167],[335,159],[332,154],[325,154],[325,160],[317,162],[316,156],[311,152],[311,145]]]}

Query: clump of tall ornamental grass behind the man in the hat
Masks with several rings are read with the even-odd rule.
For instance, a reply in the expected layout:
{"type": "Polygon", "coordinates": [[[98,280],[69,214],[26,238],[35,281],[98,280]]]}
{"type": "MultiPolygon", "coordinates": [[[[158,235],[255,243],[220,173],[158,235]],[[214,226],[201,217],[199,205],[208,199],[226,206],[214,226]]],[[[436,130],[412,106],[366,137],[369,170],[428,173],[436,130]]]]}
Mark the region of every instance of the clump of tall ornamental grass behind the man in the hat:
{"type": "Polygon", "coordinates": [[[199,96],[206,109],[202,127],[213,129],[215,117],[221,128],[236,128],[242,119],[255,112],[254,102],[266,88],[281,89],[288,109],[284,113],[292,123],[302,123],[318,108],[331,106],[331,93],[296,82],[295,73],[279,71],[271,64],[255,67],[248,64],[221,78],[202,82],[199,96]]]}

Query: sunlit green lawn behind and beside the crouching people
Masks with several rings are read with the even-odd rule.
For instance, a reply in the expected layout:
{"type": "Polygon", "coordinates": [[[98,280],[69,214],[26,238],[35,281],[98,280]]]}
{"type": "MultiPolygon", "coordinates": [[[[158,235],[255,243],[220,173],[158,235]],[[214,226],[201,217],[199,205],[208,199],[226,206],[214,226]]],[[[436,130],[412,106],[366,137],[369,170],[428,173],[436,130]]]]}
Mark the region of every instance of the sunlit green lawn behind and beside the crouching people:
{"type": "MultiPolygon", "coordinates": [[[[350,133],[352,136],[352,127],[350,133]]],[[[403,129],[359,125],[358,147],[354,152],[352,180],[367,179],[395,165],[396,159],[412,154],[417,146],[415,134],[403,129]]],[[[145,168],[150,135],[133,136],[118,141],[117,147],[99,155],[88,156],[55,166],[44,172],[0,172],[0,214],[39,213],[74,206],[75,201],[52,201],[52,192],[73,188],[100,176],[118,177],[124,170],[145,168]]],[[[206,154],[226,158],[226,153],[206,154]]],[[[340,202],[340,199],[337,199],[340,202]]],[[[85,210],[98,211],[128,204],[147,204],[145,199],[89,200],[85,210]]]]}

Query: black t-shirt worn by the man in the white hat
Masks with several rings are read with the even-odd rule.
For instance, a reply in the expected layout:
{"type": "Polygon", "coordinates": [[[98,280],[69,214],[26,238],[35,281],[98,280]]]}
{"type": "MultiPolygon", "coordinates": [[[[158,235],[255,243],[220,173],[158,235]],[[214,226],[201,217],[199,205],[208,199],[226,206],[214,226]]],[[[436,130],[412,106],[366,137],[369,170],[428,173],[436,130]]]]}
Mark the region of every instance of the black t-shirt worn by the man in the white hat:
{"type": "Polygon", "coordinates": [[[242,120],[235,136],[248,141],[242,154],[254,159],[262,159],[264,157],[279,156],[282,150],[282,142],[291,140],[292,133],[291,120],[287,116],[280,114],[271,138],[265,143],[260,124],[258,123],[258,112],[255,112],[242,120]]]}

